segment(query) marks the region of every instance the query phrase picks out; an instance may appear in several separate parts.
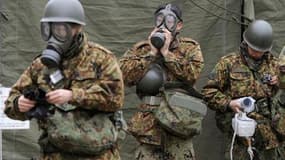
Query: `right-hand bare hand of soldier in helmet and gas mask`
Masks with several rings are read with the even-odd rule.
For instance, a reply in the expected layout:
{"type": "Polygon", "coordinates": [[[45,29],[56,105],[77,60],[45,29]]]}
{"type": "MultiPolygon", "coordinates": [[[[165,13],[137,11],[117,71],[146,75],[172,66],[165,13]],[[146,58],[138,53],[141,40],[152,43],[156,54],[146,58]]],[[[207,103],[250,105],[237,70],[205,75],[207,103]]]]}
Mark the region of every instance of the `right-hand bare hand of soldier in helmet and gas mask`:
{"type": "Polygon", "coordinates": [[[46,95],[47,102],[51,104],[62,105],[72,99],[72,91],[67,89],[57,89],[48,92],[46,95]]]}

